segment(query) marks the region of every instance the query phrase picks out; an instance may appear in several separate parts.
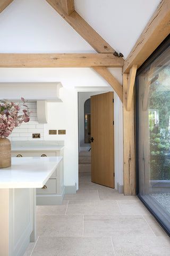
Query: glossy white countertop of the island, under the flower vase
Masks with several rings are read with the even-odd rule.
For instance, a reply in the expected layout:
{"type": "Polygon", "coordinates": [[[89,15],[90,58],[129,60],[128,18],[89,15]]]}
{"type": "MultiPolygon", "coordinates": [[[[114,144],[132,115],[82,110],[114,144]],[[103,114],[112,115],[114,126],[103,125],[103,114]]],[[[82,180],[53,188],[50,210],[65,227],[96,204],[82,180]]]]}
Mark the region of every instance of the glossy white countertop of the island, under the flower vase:
{"type": "Polygon", "coordinates": [[[12,157],[11,167],[0,169],[0,188],[42,188],[62,158],[12,157]]]}

